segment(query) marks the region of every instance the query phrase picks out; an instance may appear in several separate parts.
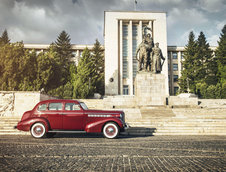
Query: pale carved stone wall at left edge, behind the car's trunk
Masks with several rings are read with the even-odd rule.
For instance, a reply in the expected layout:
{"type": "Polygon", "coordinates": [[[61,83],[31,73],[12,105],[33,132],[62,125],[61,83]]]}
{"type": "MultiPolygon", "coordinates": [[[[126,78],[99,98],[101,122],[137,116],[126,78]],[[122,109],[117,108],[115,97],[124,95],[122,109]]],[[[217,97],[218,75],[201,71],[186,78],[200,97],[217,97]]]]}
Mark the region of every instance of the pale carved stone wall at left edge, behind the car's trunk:
{"type": "Polygon", "coordinates": [[[21,117],[39,101],[53,98],[35,91],[0,91],[0,116],[21,117]]]}

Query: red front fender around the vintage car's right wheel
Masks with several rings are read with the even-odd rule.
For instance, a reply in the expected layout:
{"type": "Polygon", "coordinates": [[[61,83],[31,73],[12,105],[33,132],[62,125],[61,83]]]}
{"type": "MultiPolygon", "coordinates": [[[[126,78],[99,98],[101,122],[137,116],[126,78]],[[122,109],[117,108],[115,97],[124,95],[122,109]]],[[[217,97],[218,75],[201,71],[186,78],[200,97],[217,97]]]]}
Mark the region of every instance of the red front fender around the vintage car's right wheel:
{"type": "Polygon", "coordinates": [[[95,122],[88,123],[85,127],[85,131],[87,133],[100,133],[103,130],[103,127],[108,122],[114,122],[119,126],[119,129],[123,128],[123,123],[118,118],[111,118],[111,119],[103,119],[98,120],[95,122]]]}

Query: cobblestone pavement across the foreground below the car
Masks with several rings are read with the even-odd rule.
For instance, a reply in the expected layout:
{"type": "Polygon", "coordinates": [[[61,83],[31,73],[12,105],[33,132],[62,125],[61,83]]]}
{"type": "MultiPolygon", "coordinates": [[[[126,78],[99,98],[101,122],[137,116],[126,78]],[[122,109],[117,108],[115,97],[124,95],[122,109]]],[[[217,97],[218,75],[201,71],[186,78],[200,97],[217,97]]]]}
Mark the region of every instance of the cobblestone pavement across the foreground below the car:
{"type": "Polygon", "coordinates": [[[0,171],[226,171],[226,136],[0,136],[0,171]]]}

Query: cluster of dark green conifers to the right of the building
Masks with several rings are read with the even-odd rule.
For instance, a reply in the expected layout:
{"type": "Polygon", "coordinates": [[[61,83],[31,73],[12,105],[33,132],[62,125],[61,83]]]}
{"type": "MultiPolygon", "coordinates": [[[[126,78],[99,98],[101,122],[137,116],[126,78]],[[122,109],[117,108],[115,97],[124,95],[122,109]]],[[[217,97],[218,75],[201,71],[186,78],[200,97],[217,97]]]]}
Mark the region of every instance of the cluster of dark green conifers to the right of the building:
{"type": "Polygon", "coordinates": [[[197,40],[193,32],[189,34],[179,79],[180,92],[187,92],[188,81],[191,92],[201,98],[226,98],[226,26],[218,44],[214,56],[203,32],[197,40]]]}

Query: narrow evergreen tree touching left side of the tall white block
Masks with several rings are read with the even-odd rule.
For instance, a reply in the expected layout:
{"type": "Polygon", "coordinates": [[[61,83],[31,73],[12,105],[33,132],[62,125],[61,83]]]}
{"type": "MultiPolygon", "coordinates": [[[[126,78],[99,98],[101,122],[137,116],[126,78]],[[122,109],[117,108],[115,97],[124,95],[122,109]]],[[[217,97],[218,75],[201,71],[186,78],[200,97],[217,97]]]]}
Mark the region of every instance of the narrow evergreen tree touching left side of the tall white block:
{"type": "Polygon", "coordinates": [[[96,39],[92,49],[92,61],[94,64],[93,80],[95,92],[104,95],[104,55],[100,42],[96,39]]]}

